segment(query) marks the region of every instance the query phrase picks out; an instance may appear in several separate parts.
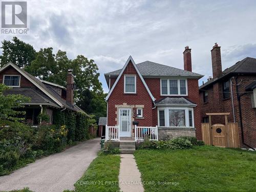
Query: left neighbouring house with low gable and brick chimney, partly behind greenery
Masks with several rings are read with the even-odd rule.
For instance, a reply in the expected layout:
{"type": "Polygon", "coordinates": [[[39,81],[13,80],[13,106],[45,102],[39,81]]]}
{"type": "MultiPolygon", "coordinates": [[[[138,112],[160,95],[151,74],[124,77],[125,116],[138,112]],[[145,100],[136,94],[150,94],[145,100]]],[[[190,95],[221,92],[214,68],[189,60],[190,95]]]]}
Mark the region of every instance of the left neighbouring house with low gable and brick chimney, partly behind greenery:
{"type": "Polygon", "coordinates": [[[33,125],[37,125],[37,116],[45,112],[50,117],[50,123],[53,121],[54,110],[81,111],[74,104],[74,77],[71,72],[67,75],[67,88],[58,84],[39,80],[26,71],[20,69],[9,62],[0,68],[0,83],[12,87],[6,90],[4,95],[20,94],[30,97],[31,100],[25,105],[25,122],[32,120],[33,125]]]}

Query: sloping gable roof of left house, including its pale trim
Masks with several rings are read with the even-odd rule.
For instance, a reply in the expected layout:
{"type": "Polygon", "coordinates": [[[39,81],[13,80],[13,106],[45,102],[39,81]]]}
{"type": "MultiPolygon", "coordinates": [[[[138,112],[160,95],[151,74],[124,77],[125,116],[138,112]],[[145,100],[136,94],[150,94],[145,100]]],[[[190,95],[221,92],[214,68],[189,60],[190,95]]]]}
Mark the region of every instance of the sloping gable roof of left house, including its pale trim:
{"type": "MultiPolygon", "coordinates": [[[[51,89],[50,87],[46,87],[46,85],[44,83],[42,83],[41,80],[37,79],[33,75],[24,71],[23,69],[20,69],[18,66],[14,65],[12,62],[7,63],[4,67],[0,68],[0,72],[4,71],[5,69],[7,69],[10,66],[13,67],[15,70],[17,70],[20,74],[22,74],[30,82],[32,82],[40,91],[45,93],[46,96],[50,98],[50,100],[54,101],[58,106],[60,106],[60,108],[67,108],[72,111],[83,112],[83,110],[81,110],[77,105],[74,104],[74,106],[72,106],[71,103],[67,103],[66,100],[62,99],[61,96],[59,96],[53,89],[51,89]]],[[[18,88],[18,89],[20,89],[20,88],[18,88]]]]}

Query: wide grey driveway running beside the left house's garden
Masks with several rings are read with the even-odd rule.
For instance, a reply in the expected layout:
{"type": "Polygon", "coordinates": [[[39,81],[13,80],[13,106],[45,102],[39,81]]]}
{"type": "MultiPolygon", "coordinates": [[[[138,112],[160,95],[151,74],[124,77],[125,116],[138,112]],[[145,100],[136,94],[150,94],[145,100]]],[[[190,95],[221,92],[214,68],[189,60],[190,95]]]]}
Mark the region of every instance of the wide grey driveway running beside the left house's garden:
{"type": "Polygon", "coordinates": [[[33,191],[74,189],[100,149],[100,138],[91,139],[0,177],[0,191],[29,187],[33,191]]]}

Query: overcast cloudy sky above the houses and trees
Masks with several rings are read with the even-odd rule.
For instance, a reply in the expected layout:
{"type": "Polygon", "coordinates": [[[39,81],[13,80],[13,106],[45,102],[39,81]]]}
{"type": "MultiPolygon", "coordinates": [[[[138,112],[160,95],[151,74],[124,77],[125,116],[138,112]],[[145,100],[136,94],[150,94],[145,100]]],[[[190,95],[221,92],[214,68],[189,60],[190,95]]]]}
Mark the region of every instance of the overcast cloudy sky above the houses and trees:
{"type": "MultiPolygon", "coordinates": [[[[212,76],[210,50],[218,42],[222,70],[256,57],[256,1],[27,1],[30,34],[18,38],[40,48],[82,54],[103,73],[150,60],[183,69],[185,46],[193,72],[212,76]]],[[[0,36],[0,40],[12,36],[0,36]]]]}

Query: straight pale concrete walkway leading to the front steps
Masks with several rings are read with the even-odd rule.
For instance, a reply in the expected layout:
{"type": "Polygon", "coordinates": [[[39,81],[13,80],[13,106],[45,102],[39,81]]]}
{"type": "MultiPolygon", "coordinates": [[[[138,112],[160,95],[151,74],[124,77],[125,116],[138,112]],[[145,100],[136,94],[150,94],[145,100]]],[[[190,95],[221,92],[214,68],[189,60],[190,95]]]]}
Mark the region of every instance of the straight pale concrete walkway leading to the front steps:
{"type": "Polygon", "coordinates": [[[122,154],[119,172],[119,187],[123,192],[143,192],[140,172],[132,154],[122,154]]]}

